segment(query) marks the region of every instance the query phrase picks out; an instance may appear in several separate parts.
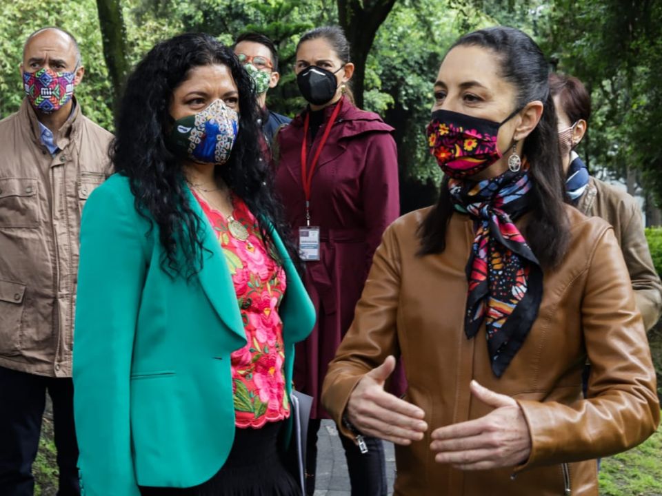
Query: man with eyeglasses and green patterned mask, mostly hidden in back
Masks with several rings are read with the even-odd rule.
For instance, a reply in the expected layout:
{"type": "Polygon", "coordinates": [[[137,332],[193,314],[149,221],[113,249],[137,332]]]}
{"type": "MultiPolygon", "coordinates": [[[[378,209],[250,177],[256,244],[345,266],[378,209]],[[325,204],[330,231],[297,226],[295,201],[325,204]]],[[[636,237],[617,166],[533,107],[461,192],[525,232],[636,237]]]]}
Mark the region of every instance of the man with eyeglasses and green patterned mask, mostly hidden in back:
{"type": "Polygon", "coordinates": [[[274,134],[282,125],[290,123],[291,118],[267,108],[267,92],[276,87],[281,75],[278,73],[278,54],[276,45],[264,34],[247,32],[234,42],[234,53],[255,82],[258,103],[262,109],[262,131],[271,144],[274,134]]]}

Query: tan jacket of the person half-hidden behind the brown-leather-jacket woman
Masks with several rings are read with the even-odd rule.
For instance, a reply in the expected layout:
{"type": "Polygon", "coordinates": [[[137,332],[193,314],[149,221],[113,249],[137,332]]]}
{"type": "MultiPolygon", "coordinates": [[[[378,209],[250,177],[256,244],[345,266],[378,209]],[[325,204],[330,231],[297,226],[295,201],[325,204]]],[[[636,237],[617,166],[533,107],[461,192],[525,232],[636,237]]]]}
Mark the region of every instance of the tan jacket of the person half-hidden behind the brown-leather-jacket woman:
{"type": "Polygon", "coordinates": [[[577,208],[582,214],[601,217],[614,227],[632,280],[636,307],[641,311],[646,330],[650,330],[662,313],[662,282],[650,258],[639,205],[621,189],[592,177],[577,208]]]}

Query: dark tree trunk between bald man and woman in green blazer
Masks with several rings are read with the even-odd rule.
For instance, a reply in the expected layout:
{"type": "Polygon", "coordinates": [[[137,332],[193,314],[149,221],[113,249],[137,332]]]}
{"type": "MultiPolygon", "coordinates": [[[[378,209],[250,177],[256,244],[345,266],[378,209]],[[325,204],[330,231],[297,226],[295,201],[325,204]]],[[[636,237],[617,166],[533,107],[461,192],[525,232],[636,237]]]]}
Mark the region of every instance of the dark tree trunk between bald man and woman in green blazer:
{"type": "Polygon", "coordinates": [[[97,0],[103,58],[106,59],[115,101],[119,99],[124,79],[129,72],[126,56],[126,26],[119,2],[120,0],[97,0]]]}

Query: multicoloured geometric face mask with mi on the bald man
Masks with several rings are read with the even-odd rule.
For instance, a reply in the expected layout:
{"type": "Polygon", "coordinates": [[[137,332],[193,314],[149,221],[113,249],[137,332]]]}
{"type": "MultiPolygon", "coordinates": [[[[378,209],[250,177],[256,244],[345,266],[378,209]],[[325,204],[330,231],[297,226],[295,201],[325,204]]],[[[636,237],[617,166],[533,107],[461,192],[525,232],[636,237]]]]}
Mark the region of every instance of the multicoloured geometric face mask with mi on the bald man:
{"type": "Polygon", "coordinates": [[[34,110],[52,114],[74,94],[75,72],[55,72],[48,68],[23,72],[23,88],[34,110]]]}

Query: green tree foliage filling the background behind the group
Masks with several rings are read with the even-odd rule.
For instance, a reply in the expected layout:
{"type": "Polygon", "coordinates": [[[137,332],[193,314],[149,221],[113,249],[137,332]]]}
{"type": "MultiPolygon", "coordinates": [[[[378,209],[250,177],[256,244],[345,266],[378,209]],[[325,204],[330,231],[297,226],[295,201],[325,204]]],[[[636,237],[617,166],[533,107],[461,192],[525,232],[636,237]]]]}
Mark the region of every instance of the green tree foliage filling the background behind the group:
{"type": "MultiPolygon", "coordinates": [[[[225,43],[245,30],[274,39],[281,55],[281,84],[269,94],[277,112],[304,105],[292,71],[297,39],[310,28],[338,22],[334,0],[121,0],[128,58],[138,61],[157,41],[183,31],[204,31],[225,43]]],[[[398,0],[381,25],[368,57],[365,107],[396,128],[403,180],[428,185],[430,203],[440,174],[425,148],[423,129],[432,81],[443,53],[460,34],[488,25],[514,25],[531,34],[558,70],[579,76],[592,92],[594,114],[580,152],[600,176],[629,178],[630,192],[661,199],[661,0],[398,0]]],[[[19,63],[23,41],[46,25],[77,37],[86,65],[78,98],[84,112],[112,130],[114,105],[103,59],[94,0],[6,1],[0,4],[0,117],[22,99],[19,63]]],[[[417,186],[418,185],[418,186],[417,186]]]]}

